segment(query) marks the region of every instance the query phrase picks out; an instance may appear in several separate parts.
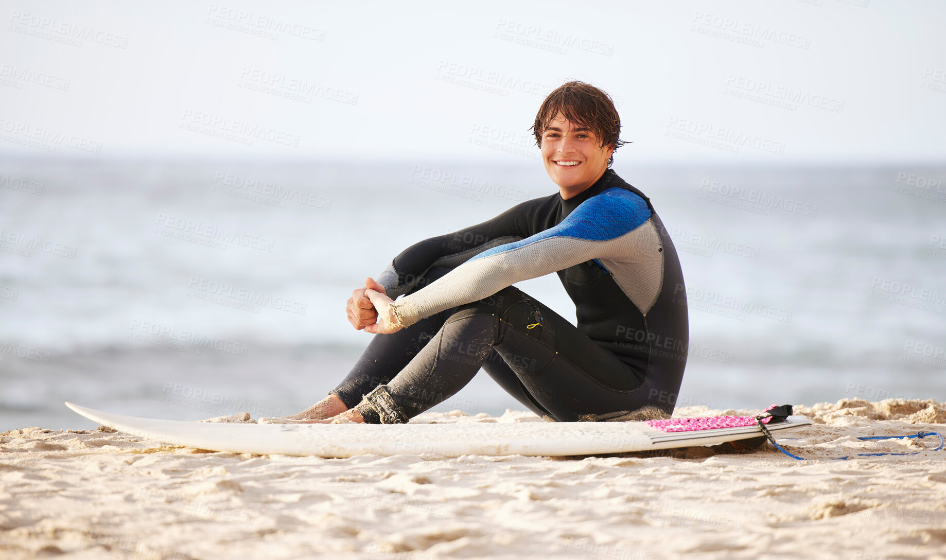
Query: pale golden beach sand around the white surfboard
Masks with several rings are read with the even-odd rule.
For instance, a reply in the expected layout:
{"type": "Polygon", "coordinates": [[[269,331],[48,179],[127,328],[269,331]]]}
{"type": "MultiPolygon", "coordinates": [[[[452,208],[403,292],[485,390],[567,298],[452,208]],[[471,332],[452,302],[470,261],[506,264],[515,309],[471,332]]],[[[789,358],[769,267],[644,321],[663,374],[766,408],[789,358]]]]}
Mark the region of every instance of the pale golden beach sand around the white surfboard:
{"type": "MultiPolygon", "coordinates": [[[[797,407],[771,448],[604,457],[213,453],[114,433],[0,434],[0,557],[944,558],[946,404],[797,407]]],[[[678,409],[675,416],[754,411],[678,409]]],[[[412,422],[541,422],[461,411],[412,422]]]]}

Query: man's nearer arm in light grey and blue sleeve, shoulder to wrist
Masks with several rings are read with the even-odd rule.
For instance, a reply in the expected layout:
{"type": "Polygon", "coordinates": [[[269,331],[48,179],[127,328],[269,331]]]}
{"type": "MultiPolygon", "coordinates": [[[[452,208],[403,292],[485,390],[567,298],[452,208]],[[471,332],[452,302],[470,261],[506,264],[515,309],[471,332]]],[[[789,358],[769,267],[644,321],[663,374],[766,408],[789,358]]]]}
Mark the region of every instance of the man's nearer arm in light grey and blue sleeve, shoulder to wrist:
{"type": "Polygon", "coordinates": [[[608,189],[582,202],[558,225],[477,254],[426,288],[392,304],[391,319],[400,326],[409,326],[522,280],[594,258],[634,258],[629,246],[636,241],[635,230],[650,216],[651,210],[638,195],[620,188],[608,189]]]}

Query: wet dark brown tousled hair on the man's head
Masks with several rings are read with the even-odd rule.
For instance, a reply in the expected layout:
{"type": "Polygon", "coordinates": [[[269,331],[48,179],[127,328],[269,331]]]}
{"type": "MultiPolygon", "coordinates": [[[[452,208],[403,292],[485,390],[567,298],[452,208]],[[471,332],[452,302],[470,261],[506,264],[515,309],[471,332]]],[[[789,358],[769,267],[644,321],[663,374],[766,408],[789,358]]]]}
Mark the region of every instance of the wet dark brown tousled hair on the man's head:
{"type": "MultiPolygon", "coordinates": [[[[601,141],[601,147],[621,148],[624,142],[621,134],[621,117],[614,107],[614,101],[604,90],[600,90],[584,81],[563,83],[546,96],[535,114],[531,131],[535,135],[535,146],[542,148],[542,132],[545,131],[556,114],[563,114],[576,127],[593,131],[601,141]]],[[[607,160],[607,166],[614,163],[614,154],[607,160]]]]}

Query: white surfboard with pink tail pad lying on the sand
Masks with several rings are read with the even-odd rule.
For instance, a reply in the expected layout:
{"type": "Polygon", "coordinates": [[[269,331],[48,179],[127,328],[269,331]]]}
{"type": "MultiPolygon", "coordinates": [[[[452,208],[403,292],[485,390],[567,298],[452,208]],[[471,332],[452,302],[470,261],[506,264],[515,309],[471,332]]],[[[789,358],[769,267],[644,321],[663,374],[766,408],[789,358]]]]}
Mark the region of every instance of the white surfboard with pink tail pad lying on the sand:
{"type": "MultiPolygon", "coordinates": [[[[643,422],[450,424],[218,424],[136,418],[65,403],[110,428],[175,446],[259,455],[595,455],[710,446],[762,435],[755,426],[665,432],[643,422]]],[[[804,416],[766,425],[770,431],[810,426],[804,416]]]]}

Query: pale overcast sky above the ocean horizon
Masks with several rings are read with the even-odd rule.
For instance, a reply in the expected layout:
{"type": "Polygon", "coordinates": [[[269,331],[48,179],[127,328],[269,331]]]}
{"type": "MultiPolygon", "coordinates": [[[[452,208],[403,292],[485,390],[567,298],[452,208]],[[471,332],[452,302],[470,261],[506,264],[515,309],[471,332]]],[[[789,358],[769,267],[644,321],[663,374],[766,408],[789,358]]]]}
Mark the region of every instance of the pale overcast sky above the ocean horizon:
{"type": "Polygon", "coordinates": [[[641,162],[946,154],[940,0],[0,7],[0,155],[516,163],[569,79],[641,162]]]}

